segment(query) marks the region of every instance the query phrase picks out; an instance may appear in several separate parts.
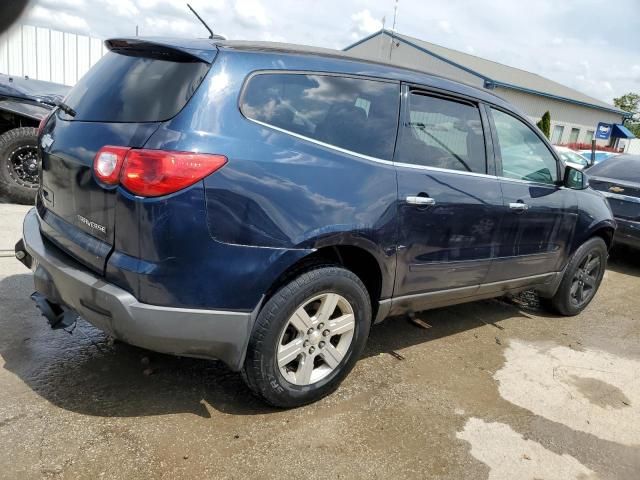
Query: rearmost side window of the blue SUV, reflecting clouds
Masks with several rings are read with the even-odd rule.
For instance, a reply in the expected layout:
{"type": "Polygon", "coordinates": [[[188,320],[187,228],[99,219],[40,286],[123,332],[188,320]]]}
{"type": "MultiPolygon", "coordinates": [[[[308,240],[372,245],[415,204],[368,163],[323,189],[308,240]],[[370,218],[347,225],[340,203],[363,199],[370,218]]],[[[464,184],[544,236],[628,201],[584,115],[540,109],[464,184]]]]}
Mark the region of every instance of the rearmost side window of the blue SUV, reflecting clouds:
{"type": "Polygon", "coordinates": [[[260,73],[241,98],[249,119],[362,155],[390,160],[400,85],[337,75],[260,73]]]}

